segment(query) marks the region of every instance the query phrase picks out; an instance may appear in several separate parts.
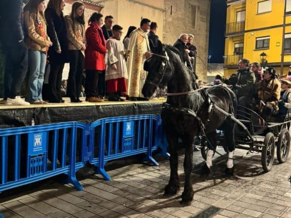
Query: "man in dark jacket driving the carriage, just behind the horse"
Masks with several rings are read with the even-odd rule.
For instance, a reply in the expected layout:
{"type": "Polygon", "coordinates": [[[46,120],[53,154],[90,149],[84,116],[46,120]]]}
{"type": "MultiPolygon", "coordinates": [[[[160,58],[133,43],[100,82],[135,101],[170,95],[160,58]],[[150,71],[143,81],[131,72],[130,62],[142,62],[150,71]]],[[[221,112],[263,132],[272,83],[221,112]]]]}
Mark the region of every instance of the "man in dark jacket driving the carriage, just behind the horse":
{"type": "Polygon", "coordinates": [[[239,70],[237,71],[238,81],[232,86],[232,90],[238,98],[238,104],[248,107],[253,95],[255,84],[255,75],[249,69],[249,60],[242,58],[238,64],[239,70]]]}

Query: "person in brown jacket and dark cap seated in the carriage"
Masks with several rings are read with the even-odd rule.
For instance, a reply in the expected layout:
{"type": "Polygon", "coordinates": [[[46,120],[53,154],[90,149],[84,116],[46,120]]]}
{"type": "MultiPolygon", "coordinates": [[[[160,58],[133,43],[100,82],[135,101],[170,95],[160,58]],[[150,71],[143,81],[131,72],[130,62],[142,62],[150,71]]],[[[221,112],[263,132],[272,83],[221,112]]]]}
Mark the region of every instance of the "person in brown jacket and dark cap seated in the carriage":
{"type": "Polygon", "coordinates": [[[269,67],[264,70],[264,78],[257,85],[256,110],[264,120],[278,111],[281,84],[276,76],[275,68],[269,67]]]}

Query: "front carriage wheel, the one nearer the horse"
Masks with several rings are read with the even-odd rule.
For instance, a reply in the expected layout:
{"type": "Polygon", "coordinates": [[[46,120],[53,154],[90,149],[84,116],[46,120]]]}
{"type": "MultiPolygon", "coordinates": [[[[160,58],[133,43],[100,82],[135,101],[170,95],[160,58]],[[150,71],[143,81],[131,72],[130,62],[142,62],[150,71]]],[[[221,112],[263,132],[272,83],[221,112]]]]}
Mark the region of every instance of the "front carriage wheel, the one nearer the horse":
{"type": "Polygon", "coordinates": [[[275,137],[269,132],[265,136],[264,146],[262,147],[262,166],[265,172],[271,170],[275,155],[275,137]]]}

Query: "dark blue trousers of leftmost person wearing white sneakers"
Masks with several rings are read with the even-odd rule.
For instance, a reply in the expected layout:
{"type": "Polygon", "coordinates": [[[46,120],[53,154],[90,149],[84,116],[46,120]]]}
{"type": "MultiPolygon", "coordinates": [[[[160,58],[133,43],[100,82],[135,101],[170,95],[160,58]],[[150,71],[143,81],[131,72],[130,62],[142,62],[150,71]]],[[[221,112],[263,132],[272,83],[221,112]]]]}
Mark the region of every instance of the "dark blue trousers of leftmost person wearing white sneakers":
{"type": "Polygon", "coordinates": [[[4,99],[19,95],[21,84],[28,70],[28,49],[21,43],[3,44],[5,54],[4,99]]]}

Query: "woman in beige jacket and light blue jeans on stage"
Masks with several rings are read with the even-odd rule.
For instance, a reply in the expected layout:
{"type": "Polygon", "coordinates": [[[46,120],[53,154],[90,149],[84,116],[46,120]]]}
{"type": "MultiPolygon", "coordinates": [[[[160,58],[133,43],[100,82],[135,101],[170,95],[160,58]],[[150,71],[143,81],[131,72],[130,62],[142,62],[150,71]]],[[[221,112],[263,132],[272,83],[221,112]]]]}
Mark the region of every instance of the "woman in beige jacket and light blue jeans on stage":
{"type": "Polygon", "coordinates": [[[47,62],[48,47],[52,42],[47,35],[44,17],[46,8],[44,0],[30,0],[24,7],[24,24],[27,31],[25,38],[29,55],[29,93],[27,101],[32,104],[46,104],[42,100],[42,86],[47,62]]]}

